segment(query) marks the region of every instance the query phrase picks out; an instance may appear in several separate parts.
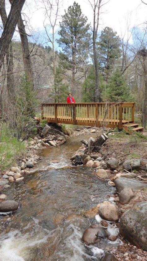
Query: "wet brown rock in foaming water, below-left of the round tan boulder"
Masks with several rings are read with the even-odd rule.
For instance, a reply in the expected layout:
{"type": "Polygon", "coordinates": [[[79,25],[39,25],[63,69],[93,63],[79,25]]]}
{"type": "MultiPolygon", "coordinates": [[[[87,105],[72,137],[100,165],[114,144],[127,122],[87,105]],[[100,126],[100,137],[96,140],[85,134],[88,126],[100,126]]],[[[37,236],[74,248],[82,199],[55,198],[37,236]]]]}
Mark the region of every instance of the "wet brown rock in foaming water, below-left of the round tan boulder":
{"type": "Polygon", "coordinates": [[[92,245],[98,241],[100,242],[101,237],[105,238],[107,236],[108,233],[105,228],[102,228],[99,224],[91,224],[85,229],[82,236],[82,241],[84,241],[87,245],[92,245]]]}

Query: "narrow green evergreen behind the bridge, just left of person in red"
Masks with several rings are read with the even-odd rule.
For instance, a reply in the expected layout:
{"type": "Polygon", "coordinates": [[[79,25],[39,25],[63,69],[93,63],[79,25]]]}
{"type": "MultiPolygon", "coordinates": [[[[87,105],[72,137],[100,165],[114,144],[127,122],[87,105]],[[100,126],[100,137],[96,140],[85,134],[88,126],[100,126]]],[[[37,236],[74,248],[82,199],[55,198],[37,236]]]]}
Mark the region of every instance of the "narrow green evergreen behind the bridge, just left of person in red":
{"type": "Polygon", "coordinates": [[[56,102],[66,102],[68,93],[68,85],[63,83],[63,74],[61,67],[56,68],[55,74],[55,90],[56,90],[56,102]]]}

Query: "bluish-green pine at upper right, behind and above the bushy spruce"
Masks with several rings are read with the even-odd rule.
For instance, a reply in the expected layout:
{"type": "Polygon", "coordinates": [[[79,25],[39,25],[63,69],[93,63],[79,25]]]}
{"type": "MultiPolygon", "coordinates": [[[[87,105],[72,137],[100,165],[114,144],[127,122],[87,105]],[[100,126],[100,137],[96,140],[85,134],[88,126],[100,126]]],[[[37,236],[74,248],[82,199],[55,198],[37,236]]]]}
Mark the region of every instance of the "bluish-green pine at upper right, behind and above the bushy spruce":
{"type": "Polygon", "coordinates": [[[117,32],[114,32],[112,28],[105,27],[98,42],[98,57],[106,81],[114,68],[115,60],[120,56],[120,38],[117,36],[117,32]]]}

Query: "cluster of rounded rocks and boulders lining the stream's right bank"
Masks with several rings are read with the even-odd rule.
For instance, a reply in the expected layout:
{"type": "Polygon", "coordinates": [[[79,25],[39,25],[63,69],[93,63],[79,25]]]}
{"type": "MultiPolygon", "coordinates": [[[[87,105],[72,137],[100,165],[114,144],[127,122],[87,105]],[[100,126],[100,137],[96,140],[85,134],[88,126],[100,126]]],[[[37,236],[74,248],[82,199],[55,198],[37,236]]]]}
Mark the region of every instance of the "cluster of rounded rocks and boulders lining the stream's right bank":
{"type": "MultiPolygon", "coordinates": [[[[71,157],[72,164],[75,166],[84,165],[86,167],[94,167],[94,173],[100,179],[109,179],[109,175],[111,174],[109,185],[116,187],[116,193],[113,204],[103,202],[92,208],[91,212],[87,211],[85,215],[94,218],[96,214],[99,214],[103,219],[103,223],[104,221],[120,222],[120,233],[122,237],[130,241],[135,247],[137,246],[143,250],[147,250],[147,201],[141,201],[136,204],[139,200],[136,196],[136,192],[142,189],[146,190],[147,184],[141,182],[139,180],[140,176],[132,172],[133,170],[140,169],[140,159],[127,159],[122,165],[119,164],[118,159],[113,157],[106,158],[104,161],[100,153],[87,154],[86,148],[90,141],[91,140],[82,141],[84,144],[82,144],[73,157],[71,157]],[[117,171],[117,169],[119,169],[119,171],[117,171]],[[120,172],[120,169],[122,172],[120,172]],[[114,176],[112,176],[112,173],[114,173],[114,176]],[[119,207],[116,203],[119,204],[119,207]],[[129,205],[129,203],[131,204],[129,205]],[[122,215],[120,220],[119,215],[122,215]]],[[[86,228],[82,240],[87,245],[96,244],[100,242],[102,238],[111,240],[112,235],[108,235],[106,230],[107,226],[105,226],[101,227],[101,223],[91,224],[86,228]]],[[[115,235],[114,237],[113,235],[112,239],[116,240],[116,238],[117,236],[115,235]]],[[[129,260],[128,253],[125,254],[125,260],[129,260]]]]}

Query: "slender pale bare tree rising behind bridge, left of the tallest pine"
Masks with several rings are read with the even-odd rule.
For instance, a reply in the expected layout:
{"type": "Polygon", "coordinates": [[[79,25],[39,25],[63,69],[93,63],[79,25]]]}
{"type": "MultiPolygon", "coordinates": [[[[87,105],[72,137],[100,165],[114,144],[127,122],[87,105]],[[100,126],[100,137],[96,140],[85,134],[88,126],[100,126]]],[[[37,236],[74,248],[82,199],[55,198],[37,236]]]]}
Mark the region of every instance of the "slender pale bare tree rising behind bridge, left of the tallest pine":
{"type": "Polygon", "coordinates": [[[59,0],[43,0],[44,8],[45,8],[45,20],[44,20],[44,28],[46,30],[48,41],[51,42],[52,45],[52,54],[53,54],[53,72],[54,72],[54,86],[55,86],[55,102],[56,102],[56,84],[55,84],[55,75],[56,75],[56,58],[55,58],[55,26],[58,19],[59,12],[59,0]],[[51,36],[47,30],[48,24],[45,24],[46,19],[49,20],[52,29],[51,36]]]}

